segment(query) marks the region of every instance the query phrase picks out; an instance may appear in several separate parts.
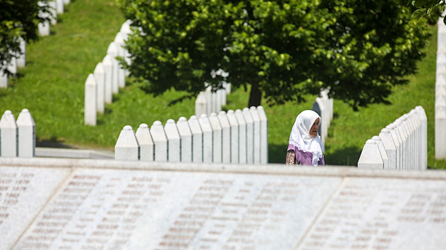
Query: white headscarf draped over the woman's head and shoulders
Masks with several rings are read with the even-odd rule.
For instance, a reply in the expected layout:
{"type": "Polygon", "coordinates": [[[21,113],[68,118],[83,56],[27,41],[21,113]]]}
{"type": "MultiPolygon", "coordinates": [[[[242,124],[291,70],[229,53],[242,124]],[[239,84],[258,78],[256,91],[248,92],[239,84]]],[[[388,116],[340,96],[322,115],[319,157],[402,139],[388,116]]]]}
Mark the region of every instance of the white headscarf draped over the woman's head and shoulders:
{"type": "Polygon", "coordinates": [[[319,118],[319,124],[321,124],[321,117],[316,112],[312,110],[302,111],[295,118],[289,140],[289,144],[296,146],[299,150],[313,154],[313,166],[317,166],[319,159],[323,156],[321,136],[312,137],[309,135],[309,130],[311,130],[317,118],[319,118]]]}

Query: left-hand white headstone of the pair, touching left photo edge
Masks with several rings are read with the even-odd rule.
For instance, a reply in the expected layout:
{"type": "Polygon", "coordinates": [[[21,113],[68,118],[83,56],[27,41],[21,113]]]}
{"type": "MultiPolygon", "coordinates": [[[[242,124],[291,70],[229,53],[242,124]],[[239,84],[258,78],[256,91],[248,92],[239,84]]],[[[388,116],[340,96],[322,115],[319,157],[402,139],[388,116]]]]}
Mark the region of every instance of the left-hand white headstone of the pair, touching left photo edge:
{"type": "Polygon", "coordinates": [[[17,123],[10,110],[0,119],[0,156],[17,157],[17,123]]]}

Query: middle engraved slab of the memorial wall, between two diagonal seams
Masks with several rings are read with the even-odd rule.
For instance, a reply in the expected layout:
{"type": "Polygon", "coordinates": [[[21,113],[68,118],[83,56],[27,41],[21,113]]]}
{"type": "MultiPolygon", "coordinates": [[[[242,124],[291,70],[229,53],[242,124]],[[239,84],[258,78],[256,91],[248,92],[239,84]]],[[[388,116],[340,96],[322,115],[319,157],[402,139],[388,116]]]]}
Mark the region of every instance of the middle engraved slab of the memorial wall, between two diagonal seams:
{"type": "Polygon", "coordinates": [[[78,169],[13,249],[293,249],[340,182],[78,169]]]}

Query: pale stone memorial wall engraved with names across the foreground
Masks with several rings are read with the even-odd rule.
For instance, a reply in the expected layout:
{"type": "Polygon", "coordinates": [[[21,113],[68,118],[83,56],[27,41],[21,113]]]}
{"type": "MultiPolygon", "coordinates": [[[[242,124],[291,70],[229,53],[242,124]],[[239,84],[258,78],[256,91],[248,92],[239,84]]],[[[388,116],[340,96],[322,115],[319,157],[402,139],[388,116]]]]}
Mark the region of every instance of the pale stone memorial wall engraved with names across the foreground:
{"type": "Polygon", "coordinates": [[[0,158],[0,249],[445,249],[446,172],[0,158]]]}

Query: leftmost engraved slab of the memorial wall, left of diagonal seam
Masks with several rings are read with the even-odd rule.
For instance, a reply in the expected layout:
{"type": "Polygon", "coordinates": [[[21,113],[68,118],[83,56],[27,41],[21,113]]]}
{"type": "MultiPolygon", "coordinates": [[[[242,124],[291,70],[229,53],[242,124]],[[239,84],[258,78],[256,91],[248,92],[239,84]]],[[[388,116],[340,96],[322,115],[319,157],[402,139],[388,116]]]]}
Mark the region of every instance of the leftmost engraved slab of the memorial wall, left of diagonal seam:
{"type": "Polygon", "coordinates": [[[0,249],[10,249],[70,173],[68,168],[0,166],[0,249]]]}

